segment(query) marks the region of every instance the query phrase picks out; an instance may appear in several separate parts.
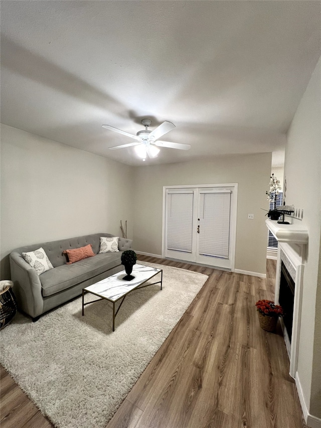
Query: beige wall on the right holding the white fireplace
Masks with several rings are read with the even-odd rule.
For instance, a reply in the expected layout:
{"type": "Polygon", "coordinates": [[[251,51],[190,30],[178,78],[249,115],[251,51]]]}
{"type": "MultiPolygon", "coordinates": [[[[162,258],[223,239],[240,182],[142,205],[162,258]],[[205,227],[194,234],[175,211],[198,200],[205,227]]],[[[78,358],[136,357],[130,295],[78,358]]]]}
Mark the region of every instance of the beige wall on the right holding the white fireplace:
{"type": "Polygon", "coordinates": [[[309,242],[303,277],[298,378],[311,414],[321,417],[321,293],[317,293],[321,232],[321,60],[319,60],[287,134],[284,176],[286,204],[303,208],[309,242]],[[316,326],[318,328],[316,329],[316,326]]]}

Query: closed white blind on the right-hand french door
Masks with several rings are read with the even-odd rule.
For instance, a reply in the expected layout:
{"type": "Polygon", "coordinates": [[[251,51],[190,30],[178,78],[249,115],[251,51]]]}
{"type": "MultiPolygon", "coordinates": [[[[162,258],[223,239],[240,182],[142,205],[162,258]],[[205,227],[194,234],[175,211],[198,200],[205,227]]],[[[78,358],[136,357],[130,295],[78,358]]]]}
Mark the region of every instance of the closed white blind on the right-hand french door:
{"type": "Polygon", "coordinates": [[[199,254],[229,257],[231,193],[200,193],[199,254]]]}

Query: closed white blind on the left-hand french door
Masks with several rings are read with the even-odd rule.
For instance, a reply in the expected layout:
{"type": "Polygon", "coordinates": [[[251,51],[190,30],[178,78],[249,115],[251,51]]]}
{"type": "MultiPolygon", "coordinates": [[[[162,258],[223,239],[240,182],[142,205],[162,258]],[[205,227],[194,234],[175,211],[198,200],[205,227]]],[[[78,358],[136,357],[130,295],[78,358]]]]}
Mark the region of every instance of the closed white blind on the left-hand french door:
{"type": "Polygon", "coordinates": [[[193,192],[167,194],[167,249],[192,252],[193,192]]]}

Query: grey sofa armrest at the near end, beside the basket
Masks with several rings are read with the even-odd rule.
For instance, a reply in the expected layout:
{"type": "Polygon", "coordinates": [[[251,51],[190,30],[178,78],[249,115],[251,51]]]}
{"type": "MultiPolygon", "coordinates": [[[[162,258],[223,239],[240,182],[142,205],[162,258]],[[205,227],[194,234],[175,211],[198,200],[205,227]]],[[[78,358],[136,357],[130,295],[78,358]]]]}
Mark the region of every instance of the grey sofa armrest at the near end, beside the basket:
{"type": "Polygon", "coordinates": [[[10,254],[10,268],[18,307],[31,317],[38,317],[44,306],[38,273],[18,252],[10,254]]]}

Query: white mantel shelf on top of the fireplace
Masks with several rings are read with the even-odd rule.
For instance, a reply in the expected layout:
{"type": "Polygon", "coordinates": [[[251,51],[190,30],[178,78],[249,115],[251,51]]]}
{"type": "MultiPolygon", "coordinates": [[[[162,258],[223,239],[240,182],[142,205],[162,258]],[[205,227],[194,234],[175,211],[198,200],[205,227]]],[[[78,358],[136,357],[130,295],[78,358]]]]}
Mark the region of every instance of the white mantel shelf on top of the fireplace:
{"type": "Polygon", "coordinates": [[[308,231],[297,224],[278,224],[277,220],[265,220],[266,226],[279,242],[304,245],[308,242],[308,231]]]}

